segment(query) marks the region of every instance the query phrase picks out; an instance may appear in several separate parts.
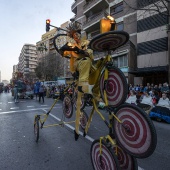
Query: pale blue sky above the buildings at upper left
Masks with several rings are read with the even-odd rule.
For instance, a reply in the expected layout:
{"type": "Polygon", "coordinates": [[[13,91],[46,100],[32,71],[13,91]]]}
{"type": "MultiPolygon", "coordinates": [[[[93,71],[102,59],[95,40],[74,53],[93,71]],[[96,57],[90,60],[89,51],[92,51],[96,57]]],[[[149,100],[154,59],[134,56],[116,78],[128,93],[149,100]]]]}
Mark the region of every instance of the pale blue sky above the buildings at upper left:
{"type": "Polygon", "coordinates": [[[74,16],[74,0],[0,0],[1,81],[12,78],[13,65],[24,44],[35,44],[45,33],[46,19],[60,27],[74,16]]]}

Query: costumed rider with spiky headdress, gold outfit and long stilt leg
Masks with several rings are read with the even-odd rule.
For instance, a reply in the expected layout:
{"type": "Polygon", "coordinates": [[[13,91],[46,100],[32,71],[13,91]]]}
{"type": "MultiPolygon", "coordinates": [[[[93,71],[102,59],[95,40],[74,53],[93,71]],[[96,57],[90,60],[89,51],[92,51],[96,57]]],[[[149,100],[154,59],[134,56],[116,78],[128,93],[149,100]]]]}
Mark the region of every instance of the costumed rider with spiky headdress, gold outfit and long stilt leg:
{"type": "Polygon", "coordinates": [[[92,67],[93,51],[88,49],[89,41],[81,40],[81,28],[78,22],[72,22],[68,27],[68,36],[74,39],[74,43],[67,43],[60,49],[60,54],[63,57],[70,58],[70,71],[74,75],[79,74],[78,78],[78,95],[77,95],[77,110],[75,121],[75,140],[79,137],[79,122],[80,122],[80,105],[81,98],[84,93],[91,93],[89,86],[89,73],[92,67]],[[69,48],[74,48],[76,51],[67,51],[69,48]]]}

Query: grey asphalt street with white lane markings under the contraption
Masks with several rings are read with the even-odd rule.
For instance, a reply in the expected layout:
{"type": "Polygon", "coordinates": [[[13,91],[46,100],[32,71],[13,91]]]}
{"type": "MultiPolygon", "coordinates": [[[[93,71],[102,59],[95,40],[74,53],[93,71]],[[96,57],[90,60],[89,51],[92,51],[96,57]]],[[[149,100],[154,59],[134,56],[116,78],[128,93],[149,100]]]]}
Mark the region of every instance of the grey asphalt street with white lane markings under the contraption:
{"type": "MultiPolygon", "coordinates": [[[[46,113],[54,99],[44,103],[35,99],[20,99],[14,103],[11,93],[0,94],[0,169],[4,170],[92,170],[90,147],[94,139],[108,134],[108,129],[95,114],[87,136],[74,140],[74,123],[40,129],[35,142],[34,116],[46,113]]],[[[85,109],[89,115],[90,107],[85,109]]],[[[103,112],[106,117],[107,113],[103,112]]],[[[62,119],[62,102],[51,111],[45,125],[62,119]]],[[[75,113],[71,120],[75,119],[75,113]]],[[[65,119],[65,121],[70,121],[65,119]]],[[[157,130],[157,148],[145,159],[137,159],[138,169],[170,169],[170,125],[153,121],[157,130]]],[[[80,129],[81,130],[81,129],[80,129]]],[[[82,131],[82,130],[81,130],[82,131]]],[[[83,131],[82,131],[83,132],[83,131]]]]}

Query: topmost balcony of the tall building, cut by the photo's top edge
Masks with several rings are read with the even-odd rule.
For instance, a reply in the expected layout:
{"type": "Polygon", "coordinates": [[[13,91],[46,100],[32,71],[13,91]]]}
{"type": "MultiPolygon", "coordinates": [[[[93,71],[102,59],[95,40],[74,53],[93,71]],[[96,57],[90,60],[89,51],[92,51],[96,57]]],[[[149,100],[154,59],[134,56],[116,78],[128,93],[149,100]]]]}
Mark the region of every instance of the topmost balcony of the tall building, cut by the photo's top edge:
{"type": "Polygon", "coordinates": [[[109,7],[109,2],[107,0],[91,0],[87,2],[83,9],[83,14],[88,16],[88,14],[92,11],[93,13],[99,11],[99,9],[106,9],[109,7]]]}

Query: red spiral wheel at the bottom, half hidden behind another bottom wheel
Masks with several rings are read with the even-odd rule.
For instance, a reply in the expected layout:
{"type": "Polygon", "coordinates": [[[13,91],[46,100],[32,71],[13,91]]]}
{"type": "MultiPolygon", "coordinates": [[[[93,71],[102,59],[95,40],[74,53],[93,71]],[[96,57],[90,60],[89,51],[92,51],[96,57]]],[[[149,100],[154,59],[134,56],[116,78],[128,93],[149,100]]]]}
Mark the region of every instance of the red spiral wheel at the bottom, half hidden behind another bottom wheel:
{"type": "Polygon", "coordinates": [[[129,155],[118,145],[113,147],[117,155],[121,170],[138,170],[138,164],[135,157],[129,155]]]}

